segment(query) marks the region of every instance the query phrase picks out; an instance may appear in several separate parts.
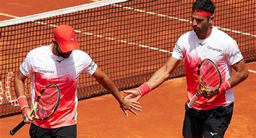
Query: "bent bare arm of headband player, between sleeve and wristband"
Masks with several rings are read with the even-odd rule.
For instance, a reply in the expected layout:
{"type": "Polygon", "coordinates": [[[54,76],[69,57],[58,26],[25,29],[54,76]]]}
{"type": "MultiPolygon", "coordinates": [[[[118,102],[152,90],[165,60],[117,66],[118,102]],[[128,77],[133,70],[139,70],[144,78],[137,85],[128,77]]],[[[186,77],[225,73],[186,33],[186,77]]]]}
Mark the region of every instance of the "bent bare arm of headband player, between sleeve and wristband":
{"type": "Polygon", "coordinates": [[[235,70],[235,73],[228,79],[231,87],[237,86],[238,84],[240,84],[240,82],[248,78],[248,68],[245,64],[244,59],[231,65],[231,67],[233,68],[233,70],[235,70]]]}

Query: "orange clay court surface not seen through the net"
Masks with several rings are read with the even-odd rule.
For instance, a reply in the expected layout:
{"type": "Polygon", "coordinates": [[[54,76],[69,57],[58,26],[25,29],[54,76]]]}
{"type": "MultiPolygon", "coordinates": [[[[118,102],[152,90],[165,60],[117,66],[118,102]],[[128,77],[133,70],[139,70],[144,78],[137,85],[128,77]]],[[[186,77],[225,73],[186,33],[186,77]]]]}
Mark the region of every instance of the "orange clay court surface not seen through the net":
{"type": "MultiPolygon", "coordinates": [[[[0,15],[0,20],[91,2],[95,1],[65,0],[60,3],[57,1],[39,1],[35,3],[35,1],[2,0],[0,13],[12,16],[0,15]]],[[[255,8],[255,2],[252,4],[252,7],[255,8]]],[[[256,25],[255,13],[252,14],[251,24],[256,25]]],[[[247,31],[250,31],[250,29],[247,31]]],[[[249,44],[255,47],[255,32],[252,31],[252,34],[254,34],[254,37],[251,37],[249,44]]],[[[247,42],[241,43],[248,44],[247,42]]],[[[252,50],[254,50],[252,51],[254,61],[246,64],[250,70],[249,77],[234,87],[234,113],[225,137],[256,137],[256,106],[254,104],[256,101],[255,48],[252,50]]],[[[3,69],[1,68],[1,70],[3,69]]],[[[123,93],[123,95],[125,94],[123,93]]],[[[111,94],[79,100],[77,137],[182,137],[186,100],[185,77],[170,79],[144,96],[140,100],[143,111],[138,115],[129,112],[129,116],[126,117],[111,94]]],[[[15,136],[9,134],[9,131],[21,120],[21,114],[0,118],[0,137],[29,137],[30,125],[25,125],[15,136]]]]}

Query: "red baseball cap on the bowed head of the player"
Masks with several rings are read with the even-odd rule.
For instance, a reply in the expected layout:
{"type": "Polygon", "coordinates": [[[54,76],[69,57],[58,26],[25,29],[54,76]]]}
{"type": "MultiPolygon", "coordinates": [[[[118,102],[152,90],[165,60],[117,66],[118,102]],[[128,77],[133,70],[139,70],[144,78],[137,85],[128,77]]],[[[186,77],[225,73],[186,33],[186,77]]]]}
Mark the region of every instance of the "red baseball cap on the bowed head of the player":
{"type": "Polygon", "coordinates": [[[59,25],[56,27],[53,31],[53,38],[64,53],[79,50],[75,31],[69,25],[59,25]]]}

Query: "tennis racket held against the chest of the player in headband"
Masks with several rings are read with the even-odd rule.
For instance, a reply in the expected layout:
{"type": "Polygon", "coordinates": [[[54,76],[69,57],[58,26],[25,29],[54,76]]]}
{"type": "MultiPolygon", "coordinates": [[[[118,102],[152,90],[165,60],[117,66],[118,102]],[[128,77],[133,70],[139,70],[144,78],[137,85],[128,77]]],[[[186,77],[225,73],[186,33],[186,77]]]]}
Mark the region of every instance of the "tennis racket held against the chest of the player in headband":
{"type": "MultiPolygon", "coordinates": [[[[205,91],[207,93],[218,92],[217,90],[221,85],[221,75],[218,67],[212,60],[202,60],[198,65],[197,74],[199,78],[199,89],[201,89],[201,91],[205,91]]],[[[197,92],[188,103],[189,108],[192,108],[198,97],[199,93],[197,92]]]]}

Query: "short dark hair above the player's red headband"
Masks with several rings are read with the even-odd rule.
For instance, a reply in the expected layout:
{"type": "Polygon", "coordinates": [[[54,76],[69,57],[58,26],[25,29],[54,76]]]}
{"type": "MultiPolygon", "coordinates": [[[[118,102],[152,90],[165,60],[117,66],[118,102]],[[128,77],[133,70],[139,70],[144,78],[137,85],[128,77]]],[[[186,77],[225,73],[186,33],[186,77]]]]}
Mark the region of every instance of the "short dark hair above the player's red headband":
{"type": "Polygon", "coordinates": [[[192,5],[192,10],[204,10],[213,14],[215,6],[211,0],[196,0],[192,5]]]}

